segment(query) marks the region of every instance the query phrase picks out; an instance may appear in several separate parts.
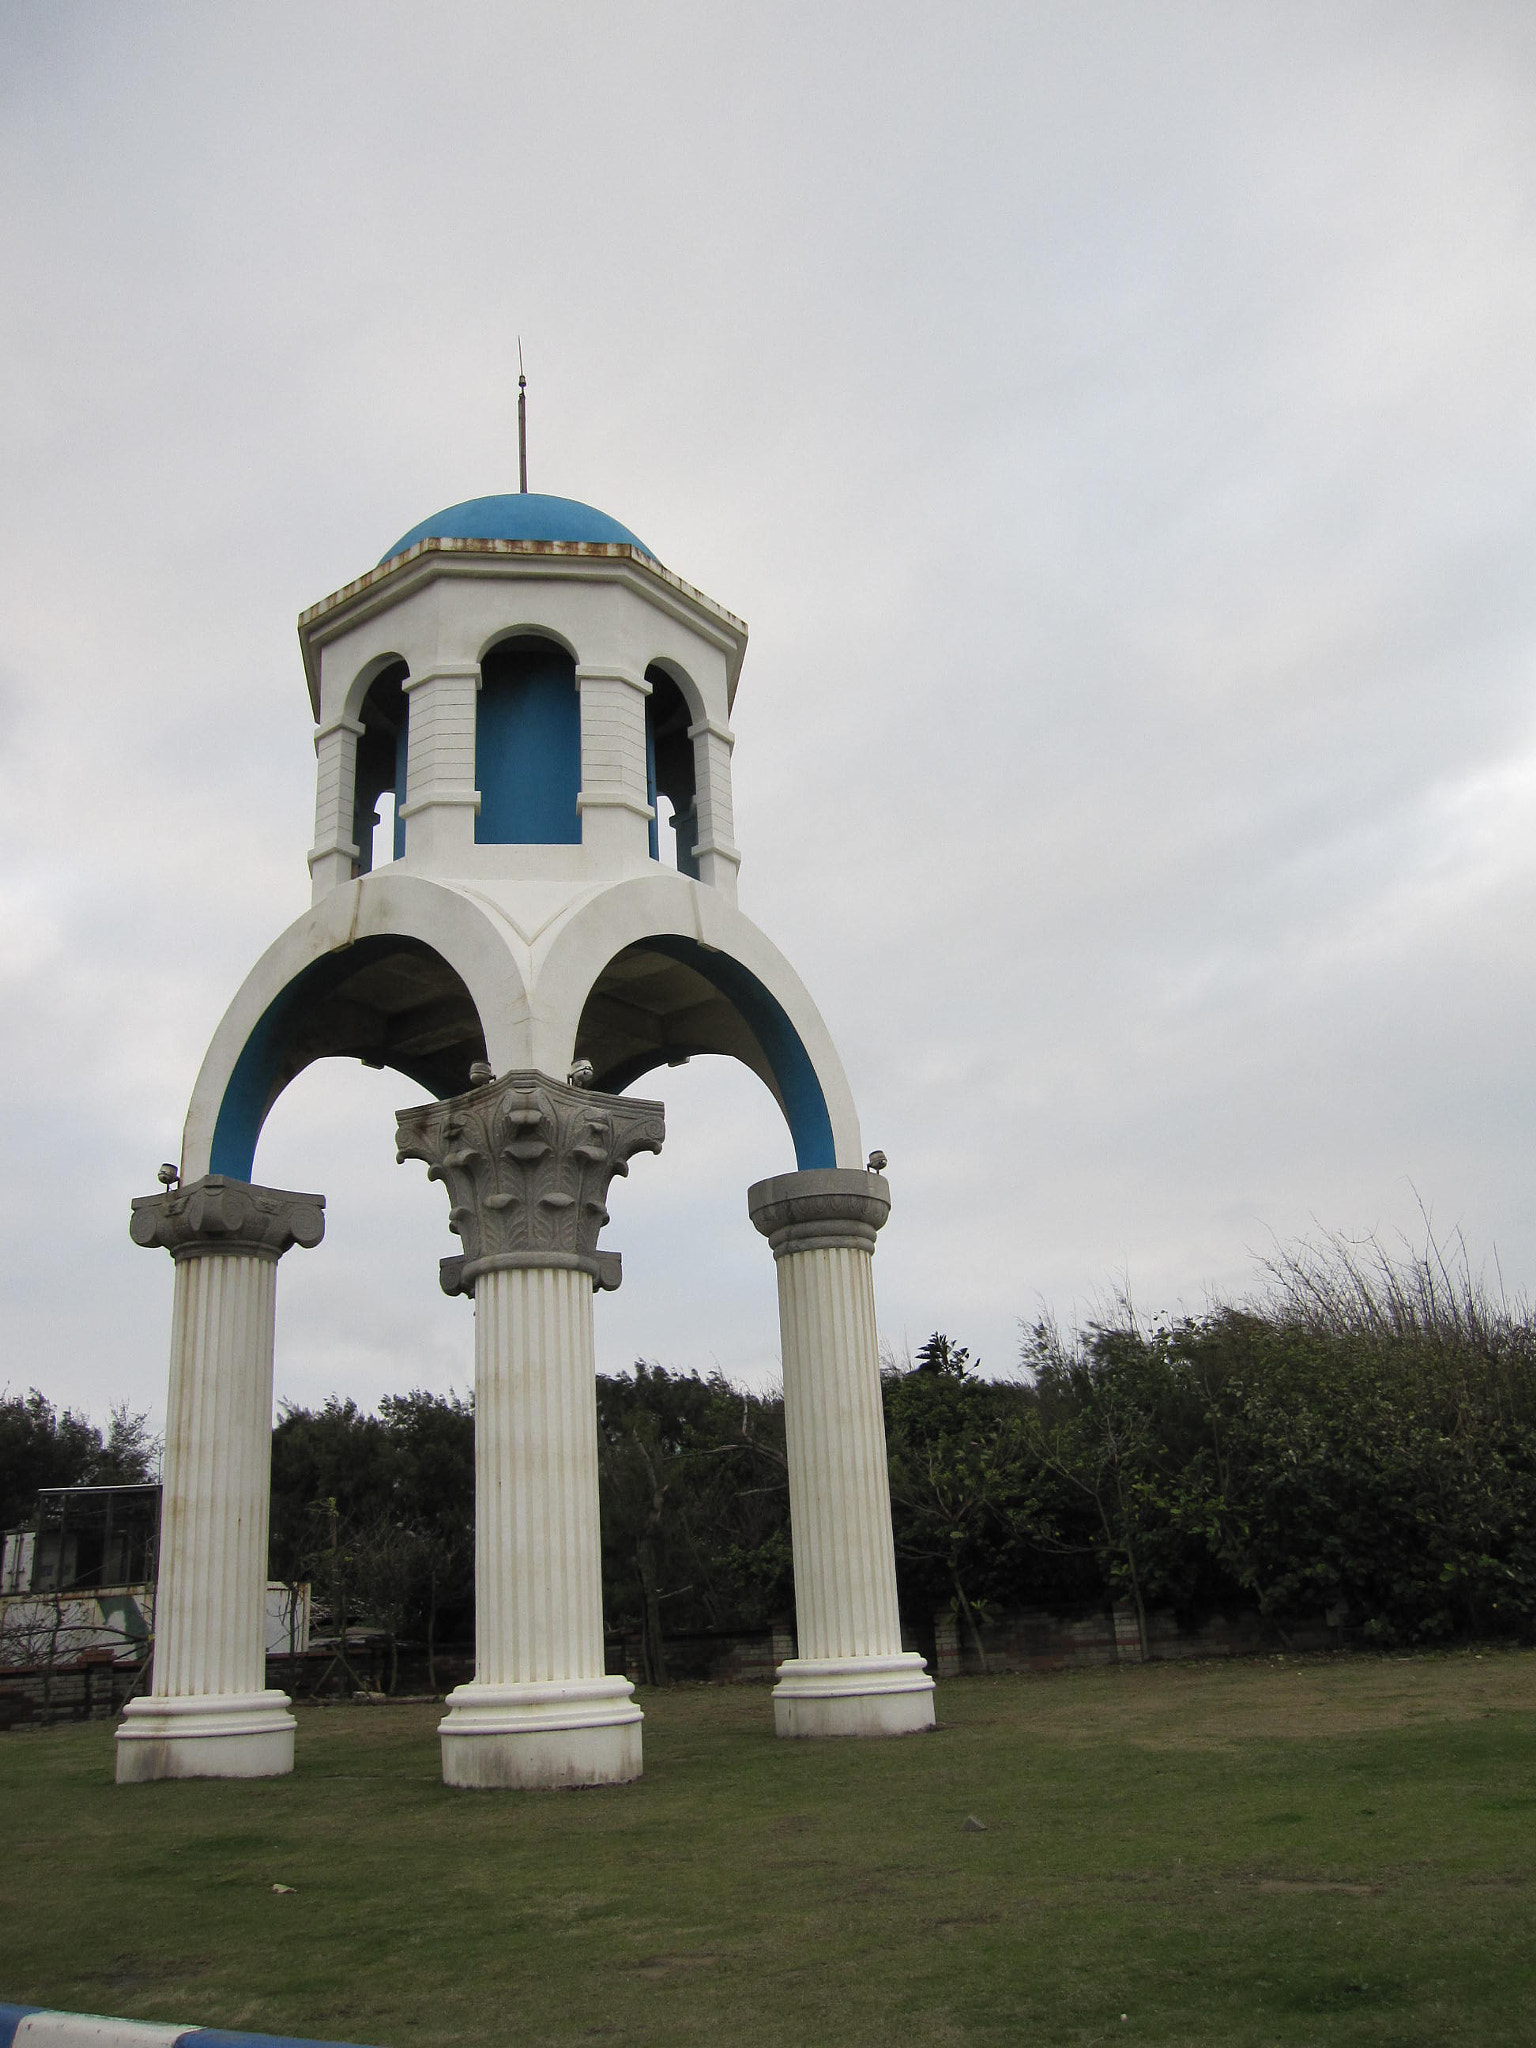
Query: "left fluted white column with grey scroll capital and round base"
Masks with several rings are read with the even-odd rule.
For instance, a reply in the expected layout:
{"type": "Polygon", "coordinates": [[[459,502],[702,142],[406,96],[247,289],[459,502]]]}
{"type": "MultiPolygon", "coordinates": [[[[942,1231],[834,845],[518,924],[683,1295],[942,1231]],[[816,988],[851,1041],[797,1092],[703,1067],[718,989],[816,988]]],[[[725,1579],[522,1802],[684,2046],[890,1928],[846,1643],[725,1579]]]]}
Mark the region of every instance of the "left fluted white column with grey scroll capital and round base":
{"type": "Polygon", "coordinates": [[[137,1196],[135,1245],[176,1262],[160,1503],[154,1690],[117,1731],[117,1782],[293,1769],[266,1690],[276,1262],[317,1245],[326,1198],[209,1174],[137,1196]]]}

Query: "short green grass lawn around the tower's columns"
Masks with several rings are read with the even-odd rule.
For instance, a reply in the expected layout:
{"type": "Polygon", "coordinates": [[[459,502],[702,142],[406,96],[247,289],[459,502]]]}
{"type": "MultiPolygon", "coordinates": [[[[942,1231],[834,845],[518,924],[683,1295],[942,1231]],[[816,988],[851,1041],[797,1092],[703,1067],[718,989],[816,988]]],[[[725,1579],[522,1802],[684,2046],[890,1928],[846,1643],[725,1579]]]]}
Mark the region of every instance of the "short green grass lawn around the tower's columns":
{"type": "Polygon", "coordinates": [[[430,1706],[299,1708],[252,1784],[0,1735],[0,1999],[381,2048],[1536,2042],[1536,1653],[958,1679],[893,1743],[641,1698],[602,1792],[449,1792],[430,1706]]]}

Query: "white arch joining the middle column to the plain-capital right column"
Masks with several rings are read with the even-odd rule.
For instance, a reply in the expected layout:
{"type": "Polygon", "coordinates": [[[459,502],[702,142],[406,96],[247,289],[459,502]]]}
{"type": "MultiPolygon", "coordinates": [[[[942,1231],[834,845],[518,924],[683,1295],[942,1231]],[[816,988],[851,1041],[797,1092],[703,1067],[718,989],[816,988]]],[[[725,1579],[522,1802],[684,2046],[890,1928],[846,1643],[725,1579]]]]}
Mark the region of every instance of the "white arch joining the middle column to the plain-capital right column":
{"type": "MultiPolygon", "coordinates": [[[[719,901],[680,874],[657,870],[604,889],[582,905],[551,940],[539,963],[535,983],[532,1065],[547,1073],[565,1073],[578,1057],[578,1032],[588,997],[604,971],[645,940],[674,940],[690,971],[713,981],[725,1006],[739,1018],[741,1036],[711,1028],[715,1042],[698,1051],[717,1051],[741,1059],[768,1085],[791,1126],[797,1157],[811,1167],[860,1167],[862,1143],[858,1112],[848,1087],[831,1032],[821,1020],[811,995],[784,954],[741,911],[719,901]],[[750,977],[750,985],[739,977],[750,977]],[[760,1008],[762,991],[772,1010],[760,1008]],[[782,1028],[778,1018],[782,1018],[782,1028]],[[772,1040],[778,1042],[772,1042],[772,1040]],[[803,1063],[803,1065],[801,1065],[803,1063]],[[805,1083],[807,1071],[819,1090],[825,1110],[827,1145],[813,1145],[813,1108],[797,1098],[795,1083],[805,1083]]],[[[649,1065],[664,1065],[657,1053],[649,1065]]],[[[623,1079],[639,1077],[639,1065],[623,1079]]],[[[596,1077],[604,1085],[604,1077],[596,1077]]]]}

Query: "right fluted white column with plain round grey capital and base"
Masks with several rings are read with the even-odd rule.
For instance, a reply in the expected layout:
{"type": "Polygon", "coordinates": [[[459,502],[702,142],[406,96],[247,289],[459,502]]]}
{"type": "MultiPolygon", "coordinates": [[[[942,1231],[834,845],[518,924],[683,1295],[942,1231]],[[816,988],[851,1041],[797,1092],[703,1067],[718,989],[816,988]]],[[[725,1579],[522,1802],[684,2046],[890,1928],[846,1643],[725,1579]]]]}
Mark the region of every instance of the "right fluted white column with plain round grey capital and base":
{"type": "Polygon", "coordinates": [[[879,1174],[823,1167],[748,1190],[778,1264],[799,1657],[778,1667],[780,1735],[909,1735],[934,1681],[903,1653],[874,1333],[879,1174]]]}

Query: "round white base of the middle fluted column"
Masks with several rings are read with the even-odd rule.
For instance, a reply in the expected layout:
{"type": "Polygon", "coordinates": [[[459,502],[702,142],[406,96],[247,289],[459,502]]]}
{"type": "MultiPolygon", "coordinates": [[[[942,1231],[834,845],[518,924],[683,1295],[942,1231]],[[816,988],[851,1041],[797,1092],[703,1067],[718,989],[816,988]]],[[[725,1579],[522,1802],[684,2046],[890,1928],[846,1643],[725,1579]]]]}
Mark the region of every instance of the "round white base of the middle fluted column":
{"type": "Polygon", "coordinates": [[[455,1686],[438,1722],[442,1782],[549,1792],[621,1786],[641,1774],[641,1720],[627,1677],[455,1686]]]}

